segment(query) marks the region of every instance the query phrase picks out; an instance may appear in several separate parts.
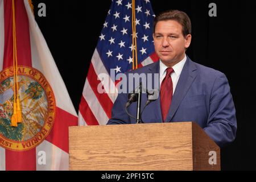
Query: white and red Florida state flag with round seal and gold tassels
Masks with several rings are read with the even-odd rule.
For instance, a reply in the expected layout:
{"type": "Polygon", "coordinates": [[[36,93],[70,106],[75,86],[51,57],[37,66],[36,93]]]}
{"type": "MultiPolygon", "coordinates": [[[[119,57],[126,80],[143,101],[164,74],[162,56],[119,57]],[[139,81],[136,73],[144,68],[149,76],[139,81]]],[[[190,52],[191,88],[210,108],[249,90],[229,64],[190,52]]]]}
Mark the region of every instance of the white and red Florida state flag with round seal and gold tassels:
{"type": "Polygon", "coordinates": [[[68,170],[77,114],[28,0],[0,0],[0,170],[68,170]]]}

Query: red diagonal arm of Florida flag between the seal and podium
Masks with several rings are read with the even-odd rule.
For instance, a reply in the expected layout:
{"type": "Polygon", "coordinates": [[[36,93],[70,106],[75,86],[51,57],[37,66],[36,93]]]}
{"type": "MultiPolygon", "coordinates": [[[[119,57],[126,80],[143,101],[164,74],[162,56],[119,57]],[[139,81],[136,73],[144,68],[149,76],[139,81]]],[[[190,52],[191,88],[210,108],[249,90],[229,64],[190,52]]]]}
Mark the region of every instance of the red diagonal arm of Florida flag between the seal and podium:
{"type": "Polygon", "coordinates": [[[77,117],[67,111],[56,107],[56,117],[49,135],[46,137],[61,150],[68,153],[68,127],[77,126],[77,117]]]}

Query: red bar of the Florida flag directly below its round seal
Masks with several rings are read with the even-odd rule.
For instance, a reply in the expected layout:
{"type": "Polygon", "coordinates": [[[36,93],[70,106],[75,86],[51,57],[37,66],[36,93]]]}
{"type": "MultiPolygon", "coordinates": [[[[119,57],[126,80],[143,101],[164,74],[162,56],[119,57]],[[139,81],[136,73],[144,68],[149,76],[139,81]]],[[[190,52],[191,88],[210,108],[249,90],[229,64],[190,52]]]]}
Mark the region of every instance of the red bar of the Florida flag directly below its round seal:
{"type": "Polygon", "coordinates": [[[6,171],[34,171],[36,170],[36,149],[15,152],[5,150],[6,171]]]}

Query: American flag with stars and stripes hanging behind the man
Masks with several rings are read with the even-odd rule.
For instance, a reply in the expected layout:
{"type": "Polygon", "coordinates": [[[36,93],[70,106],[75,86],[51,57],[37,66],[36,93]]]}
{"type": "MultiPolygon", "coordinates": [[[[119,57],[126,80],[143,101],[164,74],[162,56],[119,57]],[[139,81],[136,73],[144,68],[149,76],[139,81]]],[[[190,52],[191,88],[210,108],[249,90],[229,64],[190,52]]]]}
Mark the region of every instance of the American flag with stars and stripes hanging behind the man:
{"type": "MultiPolygon", "coordinates": [[[[104,85],[98,75],[110,77],[133,69],[133,35],[137,38],[138,68],[158,60],[154,52],[152,29],[154,12],[149,0],[112,1],[93,53],[79,106],[79,125],[105,125],[111,118],[116,93],[99,93],[104,85]],[[132,31],[132,3],[135,9],[136,34],[132,31]]],[[[109,78],[109,80],[111,80],[109,78]]],[[[111,80],[114,84],[115,80],[111,80]]]]}

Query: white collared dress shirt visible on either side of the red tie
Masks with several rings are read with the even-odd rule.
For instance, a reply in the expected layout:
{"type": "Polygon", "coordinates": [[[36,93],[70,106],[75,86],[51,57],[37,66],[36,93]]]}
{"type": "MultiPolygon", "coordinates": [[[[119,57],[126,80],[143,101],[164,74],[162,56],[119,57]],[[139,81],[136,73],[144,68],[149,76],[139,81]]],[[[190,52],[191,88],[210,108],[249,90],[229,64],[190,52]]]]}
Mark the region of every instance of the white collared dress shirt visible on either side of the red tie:
{"type": "MultiPolygon", "coordinates": [[[[185,55],[183,60],[181,60],[179,63],[175,64],[172,69],[174,69],[174,72],[171,73],[171,77],[172,77],[172,85],[173,85],[173,89],[172,89],[172,95],[174,94],[177,82],[179,81],[180,78],[180,73],[184,67],[185,61],[187,60],[187,56],[185,55]]],[[[167,65],[163,64],[162,61],[160,60],[160,70],[159,70],[159,85],[162,84],[162,81],[164,79],[164,77],[166,77],[166,68],[167,65]]],[[[161,86],[160,86],[161,88],[161,86]]]]}

